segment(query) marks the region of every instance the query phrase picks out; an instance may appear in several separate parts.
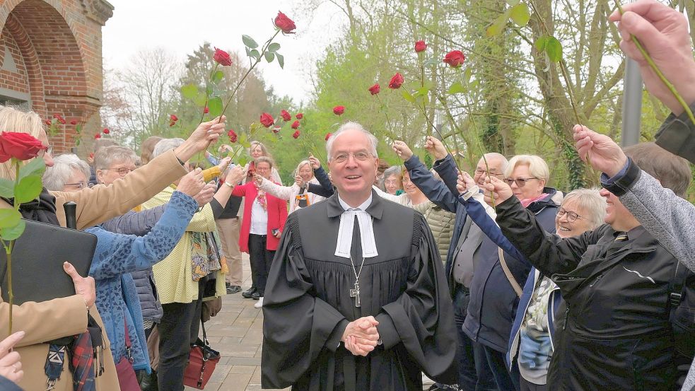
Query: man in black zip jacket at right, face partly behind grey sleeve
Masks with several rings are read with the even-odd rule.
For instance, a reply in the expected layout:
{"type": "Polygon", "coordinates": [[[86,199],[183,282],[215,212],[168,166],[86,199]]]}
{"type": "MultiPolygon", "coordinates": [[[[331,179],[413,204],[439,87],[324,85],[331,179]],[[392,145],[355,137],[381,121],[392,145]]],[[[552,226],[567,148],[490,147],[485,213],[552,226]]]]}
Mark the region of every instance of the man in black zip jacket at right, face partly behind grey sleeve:
{"type": "MultiPolygon", "coordinates": [[[[640,148],[631,153],[639,154],[640,148]]],[[[686,163],[675,157],[653,162],[653,167],[663,167],[650,175],[659,179],[659,172],[680,172],[667,170],[679,164],[686,163]]],[[[689,175],[681,176],[679,187],[687,187],[689,175]]],[[[677,366],[693,354],[679,355],[674,349],[670,315],[685,310],[673,318],[684,319],[692,329],[689,308],[679,304],[682,296],[692,297],[695,275],[609,192],[614,184],[604,182],[607,224],[566,239],[545,232],[504,182],[491,178],[486,187],[497,194],[497,222],[505,236],[552,276],[565,300],[556,319],[551,389],[673,390],[684,375],[677,366]]],[[[680,337],[691,341],[695,336],[685,332],[680,337]]]]}

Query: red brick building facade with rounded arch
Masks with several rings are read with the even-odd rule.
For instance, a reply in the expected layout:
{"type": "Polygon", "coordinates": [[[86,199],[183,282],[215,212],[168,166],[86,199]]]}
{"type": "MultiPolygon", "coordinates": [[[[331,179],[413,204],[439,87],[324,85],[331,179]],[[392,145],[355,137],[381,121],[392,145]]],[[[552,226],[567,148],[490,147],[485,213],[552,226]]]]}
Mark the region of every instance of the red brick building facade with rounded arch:
{"type": "Polygon", "coordinates": [[[105,0],[0,0],[0,104],[62,115],[49,136],[56,153],[75,145],[72,120],[83,139],[100,129],[101,28],[112,15],[105,0]]]}

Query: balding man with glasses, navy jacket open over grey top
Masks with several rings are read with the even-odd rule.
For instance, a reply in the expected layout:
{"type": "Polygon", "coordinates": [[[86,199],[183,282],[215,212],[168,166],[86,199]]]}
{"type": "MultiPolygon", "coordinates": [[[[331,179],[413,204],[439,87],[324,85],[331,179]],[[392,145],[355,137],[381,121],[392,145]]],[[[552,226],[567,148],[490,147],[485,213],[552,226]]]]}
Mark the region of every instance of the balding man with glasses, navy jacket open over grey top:
{"type": "MultiPolygon", "coordinates": [[[[470,301],[471,281],[475,264],[479,262],[479,248],[484,234],[478,226],[467,218],[467,209],[464,204],[457,202],[458,193],[452,192],[447,185],[455,185],[456,172],[452,170],[453,158],[445,149],[433,148],[433,157],[437,160],[435,170],[443,178],[444,182],[437,180],[432,173],[425,168],[411,149],[402,141],[395,146],[398,156],[404,160],[405,167],[410,175],[410,180],[430,199],[445,211],[456,214],[454,232],[451,238],[452,245],[446,257],[445,272],[448,279],[449,291],[454,304],[454,320],[459,334],[459,389],[465,391],[497,390],[497,384],[487,364],[487,358],[483,346],[472,341],[463,332],[462,326],[466,320],[468,303],[470,301]]],[[[499,153],[488,153],[486,158],[489,163],[491,175],[503,175],[507,159],[499,153]]],[[[485,162],[478,162],[474,180],[482,184],[485,173],[485,162]]],[[[470,189],[477,193],[477,189],[470,189]]],[[[494,218],[494,217],[493,217],[494,218]]]]}

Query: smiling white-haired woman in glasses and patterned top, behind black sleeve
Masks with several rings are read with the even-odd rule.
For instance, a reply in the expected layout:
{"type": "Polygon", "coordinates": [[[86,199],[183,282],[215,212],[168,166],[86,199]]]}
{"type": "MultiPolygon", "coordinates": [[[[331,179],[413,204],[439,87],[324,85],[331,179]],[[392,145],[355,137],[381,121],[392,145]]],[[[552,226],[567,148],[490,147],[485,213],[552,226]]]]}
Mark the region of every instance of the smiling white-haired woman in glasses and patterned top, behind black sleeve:
{"type": "MultiPolygon", "coordinates": [[[[598,189],[576,189],[565,196],[555,216],[560,238],[578,236],[603,224],[606,201],[598,189]]],[[[553,354],[551,334],[561,300],[560,288],[535,267],[524,286],[509,339],[507,362],[519,376],[521,390],[549,390],[548,367],[553,354]]]]}

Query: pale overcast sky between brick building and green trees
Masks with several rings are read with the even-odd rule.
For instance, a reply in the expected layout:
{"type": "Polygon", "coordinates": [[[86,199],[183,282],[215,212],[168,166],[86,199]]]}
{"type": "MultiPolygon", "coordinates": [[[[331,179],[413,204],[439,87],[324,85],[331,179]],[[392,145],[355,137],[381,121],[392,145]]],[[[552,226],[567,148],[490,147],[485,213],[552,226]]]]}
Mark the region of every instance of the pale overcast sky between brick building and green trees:
{"type": "Polygon", "coordinates": [[[103,56],[107,69],[123,69],[141,49],[161,47],[183,62],[186,54],[203,42],[243,54],[241,36],[257,42],[274,33],[272,20],[278,11],[292,18],[297,34],[276,38],[284,54],[285,68],[277,62],[257,66],[279,95],[296,103],[311,91],[308,74],[325,47],[337,37],[344,18],[332,4],[322,4],[315,15],[302,15],[302,0],[109,0],[115,7],[103,28],[103,56]]]}

